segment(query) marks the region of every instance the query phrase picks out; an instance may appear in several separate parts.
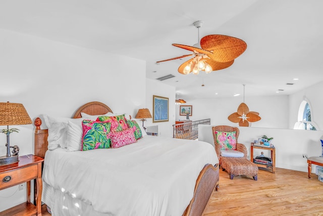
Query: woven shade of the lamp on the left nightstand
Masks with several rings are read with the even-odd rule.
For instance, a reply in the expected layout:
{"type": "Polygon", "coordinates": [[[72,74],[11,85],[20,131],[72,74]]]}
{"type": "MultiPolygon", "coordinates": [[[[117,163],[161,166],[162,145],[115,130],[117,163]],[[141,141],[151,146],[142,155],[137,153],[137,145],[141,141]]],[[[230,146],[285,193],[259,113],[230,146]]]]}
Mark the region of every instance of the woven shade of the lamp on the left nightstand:
{"type": "Polygon", "coordinates": [[[0,125],[31,124],[32,121],[22,104],[0,103],[0,125]]]}

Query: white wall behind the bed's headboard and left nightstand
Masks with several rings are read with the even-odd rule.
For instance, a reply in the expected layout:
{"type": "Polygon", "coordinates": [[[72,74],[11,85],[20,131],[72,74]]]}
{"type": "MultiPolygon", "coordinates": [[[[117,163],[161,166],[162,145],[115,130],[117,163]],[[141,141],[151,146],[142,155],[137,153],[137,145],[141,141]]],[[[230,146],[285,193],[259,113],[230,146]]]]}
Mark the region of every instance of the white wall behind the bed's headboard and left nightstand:
{"type": "MultiPolygon", "coordinates": [[[[41,114],[72,117],[91,101],[135,115],[146,106],[145,71],[142,60],[0,29],[0,102],[22,103],[32,120],[41,114]]],[[[20,132],[11,134],[11,144],[20,147],[19,155],[33,154],[34,125],[14,127],[20,132]]],[[[5,143],[0,134],[0,156],[5,143]]],[[[0,192],[0,211],[25,200],[17,188],[0,192]]]]}

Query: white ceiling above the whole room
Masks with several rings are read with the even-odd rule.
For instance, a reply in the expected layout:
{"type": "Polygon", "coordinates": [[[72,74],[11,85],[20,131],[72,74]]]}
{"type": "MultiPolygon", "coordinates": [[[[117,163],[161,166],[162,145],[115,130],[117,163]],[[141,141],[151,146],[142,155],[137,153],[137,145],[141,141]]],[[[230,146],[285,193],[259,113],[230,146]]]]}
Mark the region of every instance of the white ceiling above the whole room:
{"type": "Polygon", "coordinates": [[[162,82],[184,100],[242,97],[243,84],[246,96],[277,96],[323,80],[322,9],[321,0],[2,0],[0,28],[145,60],[147,78],[175,75],[162,82]],[[238,37],[246,51],[210,74],[178,73],[190,57],[155,64],[191,54],[172,44],[196,44],[198,20],[200,38],[238,37]]]}

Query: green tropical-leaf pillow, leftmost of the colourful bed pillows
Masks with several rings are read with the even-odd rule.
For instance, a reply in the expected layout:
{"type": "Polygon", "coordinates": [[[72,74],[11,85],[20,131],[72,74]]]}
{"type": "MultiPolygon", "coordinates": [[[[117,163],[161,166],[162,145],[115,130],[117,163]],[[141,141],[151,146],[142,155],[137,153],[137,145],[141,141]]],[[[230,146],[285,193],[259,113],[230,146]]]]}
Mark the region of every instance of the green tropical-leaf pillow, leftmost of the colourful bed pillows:
{"type": "Polygon", "coordinates": [[[111,132],[110,122],[83,120],[82,130],[83,151],[111,147],[111,139],[108,138],[111,132]]]}

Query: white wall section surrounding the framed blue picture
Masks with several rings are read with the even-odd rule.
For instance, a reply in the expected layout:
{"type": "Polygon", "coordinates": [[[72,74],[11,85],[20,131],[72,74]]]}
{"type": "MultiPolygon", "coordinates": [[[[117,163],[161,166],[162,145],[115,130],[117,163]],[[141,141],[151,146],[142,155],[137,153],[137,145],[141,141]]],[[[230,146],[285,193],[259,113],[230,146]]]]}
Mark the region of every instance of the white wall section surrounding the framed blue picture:
{"type": "Polygon", "coordinates": [[[153,95],[169,98],[169,121],[153,123],[152,118],[145,121],[146,126],[158,125],[158,136],[173,137],[175,124],[175,87],[162,81],[146,79],[146,106],[152,115],[153,95]]]}

